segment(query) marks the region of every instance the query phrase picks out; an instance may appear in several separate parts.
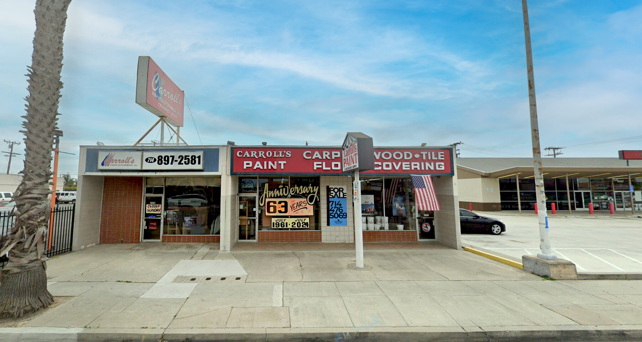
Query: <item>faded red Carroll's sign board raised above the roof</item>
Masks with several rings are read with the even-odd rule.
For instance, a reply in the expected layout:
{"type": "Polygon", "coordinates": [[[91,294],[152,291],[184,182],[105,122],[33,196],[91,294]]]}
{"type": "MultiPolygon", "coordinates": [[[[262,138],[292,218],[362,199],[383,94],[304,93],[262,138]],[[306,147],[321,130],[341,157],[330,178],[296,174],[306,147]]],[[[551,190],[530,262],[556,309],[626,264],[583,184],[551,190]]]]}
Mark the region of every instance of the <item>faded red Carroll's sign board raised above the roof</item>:
{"type": "Polygon", "coordinates": [[[138,57],[136,103],[164,118],[167,123],[183,126],[185,92],[160,69],[150,56],[138,57]]]}

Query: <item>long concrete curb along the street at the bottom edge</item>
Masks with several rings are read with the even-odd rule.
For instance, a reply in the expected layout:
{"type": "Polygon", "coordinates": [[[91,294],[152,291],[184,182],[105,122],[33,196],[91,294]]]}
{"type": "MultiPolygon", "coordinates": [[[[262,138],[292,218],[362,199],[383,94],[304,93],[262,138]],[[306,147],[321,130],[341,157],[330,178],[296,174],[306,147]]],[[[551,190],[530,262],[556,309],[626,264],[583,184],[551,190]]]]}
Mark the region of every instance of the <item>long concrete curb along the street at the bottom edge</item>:
{"type": "Polygon", "coordinates": [[[640,341],[642,325],[270,329],[0,328],[17,341],[640,341]]]}

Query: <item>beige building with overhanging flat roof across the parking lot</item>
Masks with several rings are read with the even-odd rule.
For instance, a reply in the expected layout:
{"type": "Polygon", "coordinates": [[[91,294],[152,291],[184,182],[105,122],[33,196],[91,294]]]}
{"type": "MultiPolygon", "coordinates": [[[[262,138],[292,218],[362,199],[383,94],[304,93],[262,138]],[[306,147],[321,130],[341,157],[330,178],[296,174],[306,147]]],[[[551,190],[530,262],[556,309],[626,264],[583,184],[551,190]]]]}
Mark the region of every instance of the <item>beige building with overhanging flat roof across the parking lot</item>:
{"type": "MultiPolygon", "coordinates": [[[[642,211],[642,160],[543,158],[546,207],[642,211]],[[630,177],[630,183],[629,183],[630,177]],[[592,204],[591,204],[592,203],[592,204]]],[[[534,210],[532,158],[457,158],[460,207],[534,210]]]]}

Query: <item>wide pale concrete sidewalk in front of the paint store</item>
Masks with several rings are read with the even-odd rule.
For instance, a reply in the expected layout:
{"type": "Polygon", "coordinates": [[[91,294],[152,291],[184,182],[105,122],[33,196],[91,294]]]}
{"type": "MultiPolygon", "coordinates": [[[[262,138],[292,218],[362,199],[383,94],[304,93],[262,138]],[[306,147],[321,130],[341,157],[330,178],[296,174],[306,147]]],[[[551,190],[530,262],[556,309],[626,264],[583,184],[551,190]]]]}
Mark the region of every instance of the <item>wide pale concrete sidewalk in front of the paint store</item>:
{"type": "Polygon", "coordinates": [[[48,262],[49,291],[66,302],[0,320],[0,341],[642,339],[642,280],[543,280],[431,243],[367,245],[369,271],[349,269],[344,246],[265,248],[106,244],[62,255],[48,262]]]}

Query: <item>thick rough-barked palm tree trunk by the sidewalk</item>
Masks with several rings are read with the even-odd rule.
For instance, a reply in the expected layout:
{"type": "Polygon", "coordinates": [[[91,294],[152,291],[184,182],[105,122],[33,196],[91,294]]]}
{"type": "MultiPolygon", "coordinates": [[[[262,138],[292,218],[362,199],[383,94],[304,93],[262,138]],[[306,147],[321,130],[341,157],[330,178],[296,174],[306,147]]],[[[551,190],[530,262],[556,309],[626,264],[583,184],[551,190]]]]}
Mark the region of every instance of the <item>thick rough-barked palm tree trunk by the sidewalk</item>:
{"type": "Polygon", "coordinates": [[[24,312],[48,307],[45,241],[49,221],[49,180],[53,131],[58,129],[58,99],[62,70],[62,35],[71,0],[37,0],[33,11],[36,31],[29,67],[27,114],[22,116],[25,158],[22,182],[13,200],[13,225],[0,255],[9,262],[0,271],[0,315],[20,317],[24,312]]]}

